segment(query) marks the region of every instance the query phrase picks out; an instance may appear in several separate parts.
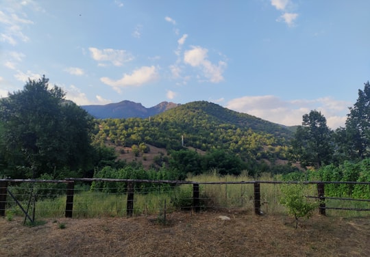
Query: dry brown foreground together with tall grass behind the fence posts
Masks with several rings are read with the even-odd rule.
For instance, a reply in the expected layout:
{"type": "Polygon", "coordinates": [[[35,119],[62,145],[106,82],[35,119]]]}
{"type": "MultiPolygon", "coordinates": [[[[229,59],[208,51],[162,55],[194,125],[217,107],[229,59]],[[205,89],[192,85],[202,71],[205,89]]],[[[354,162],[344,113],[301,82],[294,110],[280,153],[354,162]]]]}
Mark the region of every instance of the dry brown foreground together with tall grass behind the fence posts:
{"type": "MultiPolygon", "coordinates": [[[[251,178],[208,174],[189,180],[251,178]]],[[[73,219],[64,218],[61,195],[36,202],[37,226],[23,226],[24,216],[13,205],[0,218],[0,256],[370,256],[368,212],[328,210],[324,217],[314,211],[295,229],[295,219],[280,204],[279,185],[261,185],[261,216],[254,215],[251,184],[201,185],[200,191],[200,213],[176,206],[177,200],[179,206],[191,204],[192,185],[135,193],[134,217],[128,218],[125,193],[79,187],[73,219]]],[[[305,187],[305,194],[315,193],[315,185],[305,187]]],[[[366,202],[347,203],[358,204],[369,208],[366,202]]]]}

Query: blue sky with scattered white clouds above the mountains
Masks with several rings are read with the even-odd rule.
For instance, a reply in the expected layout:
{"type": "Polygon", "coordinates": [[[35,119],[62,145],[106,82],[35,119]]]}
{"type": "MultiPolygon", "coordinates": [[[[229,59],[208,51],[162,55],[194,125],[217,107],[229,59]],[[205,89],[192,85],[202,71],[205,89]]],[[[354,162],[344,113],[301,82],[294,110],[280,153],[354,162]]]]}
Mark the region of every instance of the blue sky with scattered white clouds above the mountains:
{"type": "Polygon", "coordinates": [[[345,126],[370,80],[368,0],[0,0],[0,97],[45,75],[77,105],[195,100],[345,126]]]}

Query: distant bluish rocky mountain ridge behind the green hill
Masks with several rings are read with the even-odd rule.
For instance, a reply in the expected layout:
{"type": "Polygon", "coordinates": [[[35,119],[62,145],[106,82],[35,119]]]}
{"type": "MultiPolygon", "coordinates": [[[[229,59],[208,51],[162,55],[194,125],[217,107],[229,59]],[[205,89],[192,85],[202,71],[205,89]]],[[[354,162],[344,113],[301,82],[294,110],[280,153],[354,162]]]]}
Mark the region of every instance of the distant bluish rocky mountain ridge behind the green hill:
{"type": "Polygon", "coordinates": [[[108,105],[82,105],[81,107],[97,119],[107,119],[148,118],[178,105],[176,103],[162,102],[156,106],[146,108],[140,103],[123,100],[119,103],[110,103],[108,105]]]}

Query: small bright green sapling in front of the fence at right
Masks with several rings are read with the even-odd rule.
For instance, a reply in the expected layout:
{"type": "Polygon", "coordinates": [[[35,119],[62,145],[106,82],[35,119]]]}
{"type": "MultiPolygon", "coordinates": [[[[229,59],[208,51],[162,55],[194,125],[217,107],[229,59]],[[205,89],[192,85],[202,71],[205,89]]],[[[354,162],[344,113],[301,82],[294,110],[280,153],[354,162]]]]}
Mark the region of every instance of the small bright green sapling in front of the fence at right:
{"type": "Polygon", "coordinates": [[[295,217],[295,228],[298,226],[298,219],[301,217],[309,218],[317,208],[316,202],[309,202],[304,195],[304,184],[282,185],[282,198],[280,203],[286,206],[290,215],[295,217]]]}

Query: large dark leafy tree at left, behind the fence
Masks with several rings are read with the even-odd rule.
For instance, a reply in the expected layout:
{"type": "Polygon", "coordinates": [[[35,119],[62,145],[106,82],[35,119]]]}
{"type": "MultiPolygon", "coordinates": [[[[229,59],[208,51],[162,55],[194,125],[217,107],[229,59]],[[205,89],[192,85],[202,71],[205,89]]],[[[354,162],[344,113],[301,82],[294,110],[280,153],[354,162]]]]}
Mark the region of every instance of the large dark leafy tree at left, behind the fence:
{"type": "Polygon", "coordinates": [[[49,79],[30,80],[23,90],[0,101],[6,176],[58,176],[61,171],[91,169],[90,129],[93,118],[75,103],[64,100],[49,79]]]}

